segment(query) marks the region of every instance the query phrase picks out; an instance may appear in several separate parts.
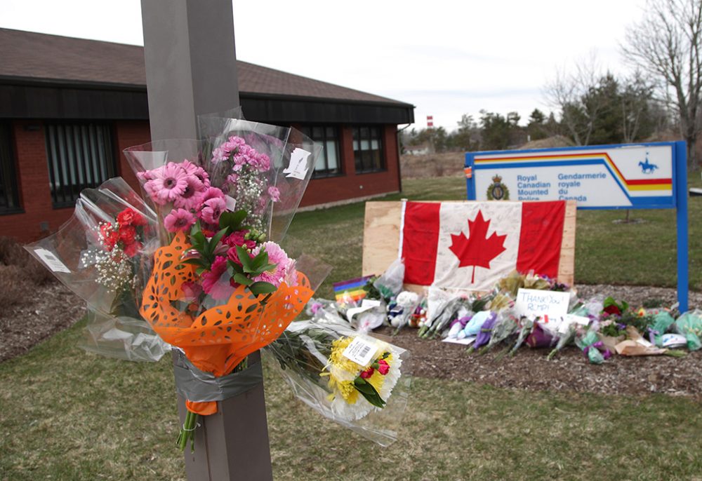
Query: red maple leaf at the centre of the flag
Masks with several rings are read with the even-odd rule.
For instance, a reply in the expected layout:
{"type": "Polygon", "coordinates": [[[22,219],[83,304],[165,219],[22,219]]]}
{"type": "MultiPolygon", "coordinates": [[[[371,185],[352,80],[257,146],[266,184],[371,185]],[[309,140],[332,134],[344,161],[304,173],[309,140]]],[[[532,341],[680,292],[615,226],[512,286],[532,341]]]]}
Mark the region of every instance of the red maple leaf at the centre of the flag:
{"type": "Polygon", "coordinates": [[[485,220],[482,212],[478,210],[475,220],[468,220],[468,235],[463,232],[457,236],[451,234],[451,247],[449,249],[458,257],[458,267],[473,266],[473,276],[470,283],[475,283],[475,268],[490,269],[490,261],[505,251],[505,238],[507,234],[498,236],[496,232],[487,237],[490,221],[485,220]]]}

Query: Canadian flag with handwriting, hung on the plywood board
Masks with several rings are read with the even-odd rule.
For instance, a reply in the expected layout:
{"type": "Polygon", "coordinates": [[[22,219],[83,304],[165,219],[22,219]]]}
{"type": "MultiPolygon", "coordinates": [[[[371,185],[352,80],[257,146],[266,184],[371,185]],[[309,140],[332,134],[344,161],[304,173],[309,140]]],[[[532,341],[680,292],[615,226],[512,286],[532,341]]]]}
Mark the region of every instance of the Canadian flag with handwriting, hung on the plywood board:
{"type": "Polygon", "coordinates": [[[404,282],[490,290],[511,271],[555,278],[565,201],[406,202],[404,282]]]}

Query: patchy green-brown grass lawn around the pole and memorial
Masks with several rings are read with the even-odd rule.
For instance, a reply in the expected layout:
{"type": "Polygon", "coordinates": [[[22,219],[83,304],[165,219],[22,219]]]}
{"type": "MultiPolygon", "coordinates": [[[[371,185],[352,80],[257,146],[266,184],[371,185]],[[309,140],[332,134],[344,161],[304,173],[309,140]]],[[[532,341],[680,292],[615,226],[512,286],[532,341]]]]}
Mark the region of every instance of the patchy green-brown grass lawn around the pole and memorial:
{"type": "MultiPolygon", "coordinates": [[[[699,187],[701,182],[695,182],[699,187]]],[[[459,199],[460,177],[405,181],[404,197],[459,199]]],[[[400,195],[392,198],[400,198],[400,195]]],[[[299,214],[291,233],[361,271],[363,205],[299,214]]],[[[702,198],[690,199],[691,285],[702,287],[702,198]]],[[[579,212],[576,280],[675,285],[673,211],[579,212]],[[600,247],[602,245],[602,247],[600,247]]],[[[74,347],[83,323],[0,364],[0,480],[179,480],[171,360],[126,363],[74,347]]],[[[554,369],[557,369],[554,363],[554,369]]],[[[597,369],[597,367],[592,367],[597,369]]],[[[702,479],[699,402],[531,393],[416,379],[402,438],[381,449],[297,402],[265,370],[277,480],[702,479]]],[[[645,381],[645,380],[642,380],[645,381]]]]}

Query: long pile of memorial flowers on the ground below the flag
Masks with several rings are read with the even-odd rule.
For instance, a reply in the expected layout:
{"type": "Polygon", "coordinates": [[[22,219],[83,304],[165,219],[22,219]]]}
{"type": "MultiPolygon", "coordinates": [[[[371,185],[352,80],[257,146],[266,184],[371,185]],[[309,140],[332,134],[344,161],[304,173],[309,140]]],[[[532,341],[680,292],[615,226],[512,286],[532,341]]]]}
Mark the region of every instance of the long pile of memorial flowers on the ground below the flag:
{"type": "Polygon", "coordinates": [[[395,332],[415,327],[420,338],[463,344],[468,353],[498,349],[500,356],[515,355],[519,348],[529,347],[543,348],[548,358],[554,358],[566,346],[575,346],[595,364],[615,355],[679,357],[685,355],[684,349],[702,347],[700,310],[680,313],[677,306],[634,309],[602,294],[582,299],[569,286],[534,273],[513,272],[482,294],[433,286],[417,294],[402,290],[402,276],[398,260],[382,276],[363,278],[361,294],[354,299],[345,295],[337,296],[336,302],[313,299],[312,316],[362,330],[380,325],[394,327],[395,332]],[[523,289],[569,294],[567,313],[519,315],[515,304],[523,289]]]}

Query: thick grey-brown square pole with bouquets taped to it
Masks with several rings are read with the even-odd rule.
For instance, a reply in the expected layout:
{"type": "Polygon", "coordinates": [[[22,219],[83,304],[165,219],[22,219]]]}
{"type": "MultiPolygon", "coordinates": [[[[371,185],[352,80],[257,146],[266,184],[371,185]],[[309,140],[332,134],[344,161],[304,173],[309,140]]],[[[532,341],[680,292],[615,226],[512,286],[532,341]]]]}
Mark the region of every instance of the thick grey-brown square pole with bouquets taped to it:
{"type": "MultiPolygon", "coordinates": [[[[195,138],[198,115],[239,105],[232,1],[142,0],[141,8],[151,138],[195,138]]],[[[182,398],[178,411],[182,422],[182,398]]],[[[200,420],[195,452],[185,452],[188,480],[272,480],[263,384],[200,420]]]]}

